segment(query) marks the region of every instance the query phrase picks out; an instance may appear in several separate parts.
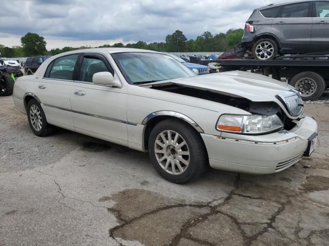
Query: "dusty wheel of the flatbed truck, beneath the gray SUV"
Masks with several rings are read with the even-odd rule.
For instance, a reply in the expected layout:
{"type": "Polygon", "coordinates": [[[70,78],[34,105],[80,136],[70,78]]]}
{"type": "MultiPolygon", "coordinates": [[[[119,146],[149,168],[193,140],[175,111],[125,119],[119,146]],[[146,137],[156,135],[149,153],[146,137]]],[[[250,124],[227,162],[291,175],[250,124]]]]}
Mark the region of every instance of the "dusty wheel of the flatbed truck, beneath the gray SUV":
{"type": "Polygon", "coordinates": [[[325,90],[324,78],[315,72],[302,72],[290,80],[290,85],[300,91],[303,100],[316,100],[325,90]]]}

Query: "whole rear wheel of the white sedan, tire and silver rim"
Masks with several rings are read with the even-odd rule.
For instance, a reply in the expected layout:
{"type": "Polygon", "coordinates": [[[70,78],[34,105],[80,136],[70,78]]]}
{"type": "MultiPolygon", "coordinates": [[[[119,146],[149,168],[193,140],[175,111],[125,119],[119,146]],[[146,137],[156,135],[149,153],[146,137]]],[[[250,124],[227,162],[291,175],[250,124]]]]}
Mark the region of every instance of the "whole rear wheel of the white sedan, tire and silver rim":
{"type": "Polygon", "coordinates": [[[30,128],[36,136],[44,137],[56,130],[54,126],[48,124],[45,112],[37,100],[28,101],[26,113],[30,128]]]}

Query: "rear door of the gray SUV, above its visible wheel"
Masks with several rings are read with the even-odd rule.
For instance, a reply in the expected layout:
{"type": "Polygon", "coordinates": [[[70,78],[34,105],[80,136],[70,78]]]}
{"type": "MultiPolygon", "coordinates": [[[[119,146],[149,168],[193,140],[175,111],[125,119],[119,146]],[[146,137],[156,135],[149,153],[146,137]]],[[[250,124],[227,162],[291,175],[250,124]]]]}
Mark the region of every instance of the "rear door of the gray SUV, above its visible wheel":
{"type": "Polygon", "coordinates": [[[309,52],[312,32],[312,4],[302,2],[282,6],[272,23],[272,33],[280,39],[285,53],[309,52]]]}

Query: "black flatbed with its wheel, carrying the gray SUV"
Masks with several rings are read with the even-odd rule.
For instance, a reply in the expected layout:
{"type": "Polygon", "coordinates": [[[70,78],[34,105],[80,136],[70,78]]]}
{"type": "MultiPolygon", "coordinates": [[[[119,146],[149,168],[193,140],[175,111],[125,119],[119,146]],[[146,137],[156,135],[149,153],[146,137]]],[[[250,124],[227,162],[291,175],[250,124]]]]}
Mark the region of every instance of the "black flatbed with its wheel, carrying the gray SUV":
{"type": "Polygon", "coordinates": [[[233,59],[213,60],[225,71],[251,71],[285,78],[287,83],[301,92],[304,100],[316,100],[329,88],[329,52],[279,56],[273,60],[233,59]]]}

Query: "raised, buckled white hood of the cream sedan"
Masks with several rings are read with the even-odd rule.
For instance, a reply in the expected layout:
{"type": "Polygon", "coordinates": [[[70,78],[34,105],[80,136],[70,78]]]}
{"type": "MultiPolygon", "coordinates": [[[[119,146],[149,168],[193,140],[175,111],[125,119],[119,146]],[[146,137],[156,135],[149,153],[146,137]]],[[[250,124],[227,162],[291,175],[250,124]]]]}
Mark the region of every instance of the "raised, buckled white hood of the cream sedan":
{"type": "Polygon", "coordinates": [[[218,94],[243,97],[251,101],[276,101],[279,104],[281,103],[276,95],[293,89],[287,83],[263,75],[241,71],[158,81],[145,86],[161,84],[176,84],[218,94]]]}

